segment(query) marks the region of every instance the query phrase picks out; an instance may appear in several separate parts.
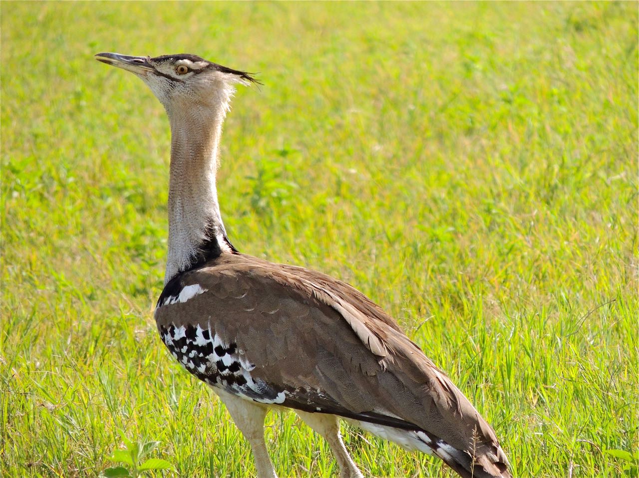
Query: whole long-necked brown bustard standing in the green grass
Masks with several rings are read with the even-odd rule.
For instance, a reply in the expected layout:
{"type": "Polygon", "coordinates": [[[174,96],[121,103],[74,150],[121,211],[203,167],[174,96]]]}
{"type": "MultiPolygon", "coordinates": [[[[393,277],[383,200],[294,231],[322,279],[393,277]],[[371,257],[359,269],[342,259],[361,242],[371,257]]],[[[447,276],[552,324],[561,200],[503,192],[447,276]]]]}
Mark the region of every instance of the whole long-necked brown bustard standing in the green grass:
{"type": "Polygon", "coordinates": [[[193,54],[95,58],[141,78],[166,109],[169,240],[155,321],[174,359],[226,405],[258,477],[276,477],[264,420],[284,408],[327,441],[342,478],[363,475],[339,420],[461,477],[510,477],[495,431],[380,306],[346,282],[229,241],[216,186],[222,123],[236,86],[256,76],[193,54]]]}

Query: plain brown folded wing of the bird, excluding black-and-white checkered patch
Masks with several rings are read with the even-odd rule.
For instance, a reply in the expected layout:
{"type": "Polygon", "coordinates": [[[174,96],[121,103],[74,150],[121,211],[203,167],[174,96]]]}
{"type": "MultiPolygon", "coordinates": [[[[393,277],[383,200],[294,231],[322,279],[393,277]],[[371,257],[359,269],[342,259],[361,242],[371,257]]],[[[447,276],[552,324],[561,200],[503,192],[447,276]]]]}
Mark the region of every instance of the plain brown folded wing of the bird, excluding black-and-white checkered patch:
{"type": "Polygon", "coordinates": [[[422,429],[480,458],[503,454],[493,430],[446,374],[348,284],[242,254],[225,254],[181,281],[207,291],[187,304],[160,307],[158,325],[214,325],[256,365],[252,376],[287,391],[284,405],[395,420],[391,426],[422,429]]]}

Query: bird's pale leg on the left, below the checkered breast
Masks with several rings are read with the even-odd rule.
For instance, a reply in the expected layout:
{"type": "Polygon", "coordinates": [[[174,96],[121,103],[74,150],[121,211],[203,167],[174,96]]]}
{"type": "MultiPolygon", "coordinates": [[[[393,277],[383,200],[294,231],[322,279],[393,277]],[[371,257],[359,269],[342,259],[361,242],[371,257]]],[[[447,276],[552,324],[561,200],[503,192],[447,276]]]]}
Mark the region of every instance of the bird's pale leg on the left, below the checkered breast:
{"type": "Polygon", "coordinates": [[[215,392],[226,405],[237,428],[249,442],[258,478],[277,478],[264,441],[264,418],[268,412],[267,408],[221,390],[215,390],[215,392]]]}

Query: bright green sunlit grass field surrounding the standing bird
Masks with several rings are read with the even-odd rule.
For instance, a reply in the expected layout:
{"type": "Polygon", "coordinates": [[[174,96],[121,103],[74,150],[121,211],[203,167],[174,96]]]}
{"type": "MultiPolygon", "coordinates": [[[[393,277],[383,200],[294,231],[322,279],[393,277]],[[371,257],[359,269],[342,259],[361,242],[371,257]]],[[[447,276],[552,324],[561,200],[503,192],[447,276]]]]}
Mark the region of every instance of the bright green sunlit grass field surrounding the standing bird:
{"type": "MultiPolygon", "coordinates": [[[[168,124],[102,51],[259,72],[223,138],[236,247],[385,307],[516,475],[624,474],[603,451],[639,441],[636,3],[1,10],[1,476],[95,476],[119,430],[171,475],[254,474],[155,331],[168,124]]],[[[279,474],[336,473],[295,415],[267,420],[279,474]]],[[[366,474],[450,475],[345,432],[366,474]]]]}

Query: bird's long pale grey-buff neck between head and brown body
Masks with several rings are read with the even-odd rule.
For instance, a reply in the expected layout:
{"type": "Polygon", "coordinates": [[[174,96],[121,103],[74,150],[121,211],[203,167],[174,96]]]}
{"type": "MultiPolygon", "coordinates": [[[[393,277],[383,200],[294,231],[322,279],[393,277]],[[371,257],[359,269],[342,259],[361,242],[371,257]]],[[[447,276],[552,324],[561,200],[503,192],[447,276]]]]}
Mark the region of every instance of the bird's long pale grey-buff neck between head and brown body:
{"type": "Polygon", "coordinates": [[[227,109],[228,103],[169,114],[169,254],[164,284],[194,265],[232,251],[215,187],[227,109]]]}

